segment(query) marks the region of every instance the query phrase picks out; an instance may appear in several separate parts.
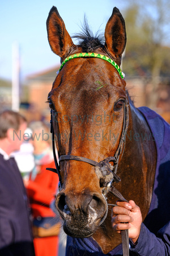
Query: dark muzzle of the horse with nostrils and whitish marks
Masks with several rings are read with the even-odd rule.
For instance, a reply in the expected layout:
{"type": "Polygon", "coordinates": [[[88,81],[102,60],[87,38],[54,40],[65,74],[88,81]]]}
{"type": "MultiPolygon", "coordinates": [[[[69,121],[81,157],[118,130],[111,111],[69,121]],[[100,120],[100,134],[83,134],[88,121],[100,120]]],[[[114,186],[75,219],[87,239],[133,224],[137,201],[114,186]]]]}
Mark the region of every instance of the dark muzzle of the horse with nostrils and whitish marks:
{"type": "Polygon", "coordinates": [[[92,236],[107,212],[104,196],[87,191],[79,194],[60,192],[56,197],[56,207],[64,221],[65,233],[79,238],[92,236]]]}

